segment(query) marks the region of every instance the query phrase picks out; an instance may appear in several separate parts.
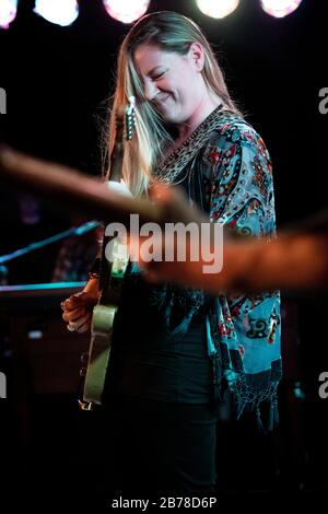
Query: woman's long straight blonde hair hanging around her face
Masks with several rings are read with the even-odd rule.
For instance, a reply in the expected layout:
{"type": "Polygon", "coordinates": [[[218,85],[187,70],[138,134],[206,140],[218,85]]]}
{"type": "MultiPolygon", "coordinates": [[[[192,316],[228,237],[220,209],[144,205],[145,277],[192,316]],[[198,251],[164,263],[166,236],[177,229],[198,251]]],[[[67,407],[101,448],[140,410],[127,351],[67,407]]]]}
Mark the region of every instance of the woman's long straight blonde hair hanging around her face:
{"type": "Polygon", "coordinates": [[[141,44],[151,44],[165,51],[186,55],[198,42],[204,51],[203,80],[209,90],[222,98],[233,113],[238,113],[224,82],[213,50],[199,26],[190,19],[173,11],[147,14],[125,37],[117,62],[117,81],[107,138],[110,156],[116,136],[116,112],[133,95],[136,97],[136,130],[131,141],[125,143],[122,178],[134,196],[147,192],[153,166],[162,155],[164,144],[172,138],[165,125],[144,97],[143,84],[136,69],[133,55],[141,44]]]}

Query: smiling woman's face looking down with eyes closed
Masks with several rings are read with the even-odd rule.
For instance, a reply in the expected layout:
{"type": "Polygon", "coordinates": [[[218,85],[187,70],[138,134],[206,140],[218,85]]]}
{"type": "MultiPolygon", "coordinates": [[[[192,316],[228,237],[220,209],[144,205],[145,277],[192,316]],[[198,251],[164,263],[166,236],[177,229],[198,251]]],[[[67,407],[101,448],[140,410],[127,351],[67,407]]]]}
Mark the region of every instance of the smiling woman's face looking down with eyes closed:
{"type": "Polygon", "coordinates": [[[144,85],[144,95],[162,118],[172,124],[188,121],[203,95],[203,52],[199,44],[180,56],[157,46],[142,44],[134,62],[144,85]]]}

